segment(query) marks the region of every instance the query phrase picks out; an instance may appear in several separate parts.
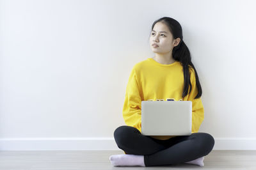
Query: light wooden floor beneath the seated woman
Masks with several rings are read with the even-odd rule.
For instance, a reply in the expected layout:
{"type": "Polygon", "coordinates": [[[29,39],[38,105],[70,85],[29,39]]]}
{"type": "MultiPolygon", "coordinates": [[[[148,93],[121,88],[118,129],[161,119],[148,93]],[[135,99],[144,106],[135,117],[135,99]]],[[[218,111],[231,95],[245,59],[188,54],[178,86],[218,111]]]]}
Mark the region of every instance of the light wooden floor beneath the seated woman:
{"type": "Polygon", "coordinates": [[[0,151],[1,170],[28,169],[256,169],[256,151],[212,150],[204,167],[193,164],[154,167],[113,167],[109,156],[124,151],[0,151]]]}

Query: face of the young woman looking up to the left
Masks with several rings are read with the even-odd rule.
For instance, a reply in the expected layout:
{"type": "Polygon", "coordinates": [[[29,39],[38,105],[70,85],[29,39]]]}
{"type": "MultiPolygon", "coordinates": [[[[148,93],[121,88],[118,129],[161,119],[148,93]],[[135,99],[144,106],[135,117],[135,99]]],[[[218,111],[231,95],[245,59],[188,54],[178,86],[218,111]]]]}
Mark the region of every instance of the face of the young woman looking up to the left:
{"type": "Polygon", "coordinates": [[[172,33],[163,22],[157,22],[150,34],[150,47],[155,53],[168,53],[173,47],[179,44],[179,42],[177,43],[177,41],[173,41],[172,33]],[[156,43],[158,47],[154,47],[154,43],[156,43]]]}

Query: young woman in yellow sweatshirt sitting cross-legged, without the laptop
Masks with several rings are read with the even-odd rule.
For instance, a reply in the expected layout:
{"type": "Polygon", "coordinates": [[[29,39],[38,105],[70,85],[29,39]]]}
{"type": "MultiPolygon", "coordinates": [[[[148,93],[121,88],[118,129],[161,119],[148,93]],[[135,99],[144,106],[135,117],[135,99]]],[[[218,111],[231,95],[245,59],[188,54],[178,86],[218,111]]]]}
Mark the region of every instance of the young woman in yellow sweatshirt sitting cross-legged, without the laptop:
{"type": "Polygon", "coordinates": [[[198,132],[204,120],[202,88],[183,41],[177,20],[163,17],[152,24],[150,47],[155,53],[134,65],[123,108],[125,124],[114,137],[122,155],[111,155],[113,166],[161,166],[179,163],[204,166],[204,156],[213,146],[212,135],[198,132]],[[141,101],[192,101],[192,134],[182,136],[142,135],[141,101]]]}

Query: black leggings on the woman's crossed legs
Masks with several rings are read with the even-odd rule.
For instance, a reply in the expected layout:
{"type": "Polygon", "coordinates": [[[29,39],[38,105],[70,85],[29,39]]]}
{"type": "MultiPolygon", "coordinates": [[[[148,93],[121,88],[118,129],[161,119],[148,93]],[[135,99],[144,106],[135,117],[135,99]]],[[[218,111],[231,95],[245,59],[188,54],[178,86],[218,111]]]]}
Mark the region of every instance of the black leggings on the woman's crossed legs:
{"type": "Polygon", "coordinates": [[[145,166],[172,165],[208,155],[214,146],[212,135],[197,132],[179,135],[167,140],[142,135],[134,127],[116,128],[114,137],[118,148],[126,154],[144,155],[145,166]]]}

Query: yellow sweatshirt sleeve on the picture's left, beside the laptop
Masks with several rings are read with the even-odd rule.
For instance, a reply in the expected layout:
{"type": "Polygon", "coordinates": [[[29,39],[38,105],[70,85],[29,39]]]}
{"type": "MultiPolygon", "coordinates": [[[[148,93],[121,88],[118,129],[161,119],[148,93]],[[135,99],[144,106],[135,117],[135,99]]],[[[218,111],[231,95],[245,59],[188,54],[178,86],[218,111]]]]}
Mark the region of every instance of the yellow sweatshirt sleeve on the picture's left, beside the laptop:
{"type": "Polygon", "coordinates": [[[123,118],[126,125],[135,127],[141,132],[141,96],[134,68],[130,73],[125,91],[123,118]]]}

